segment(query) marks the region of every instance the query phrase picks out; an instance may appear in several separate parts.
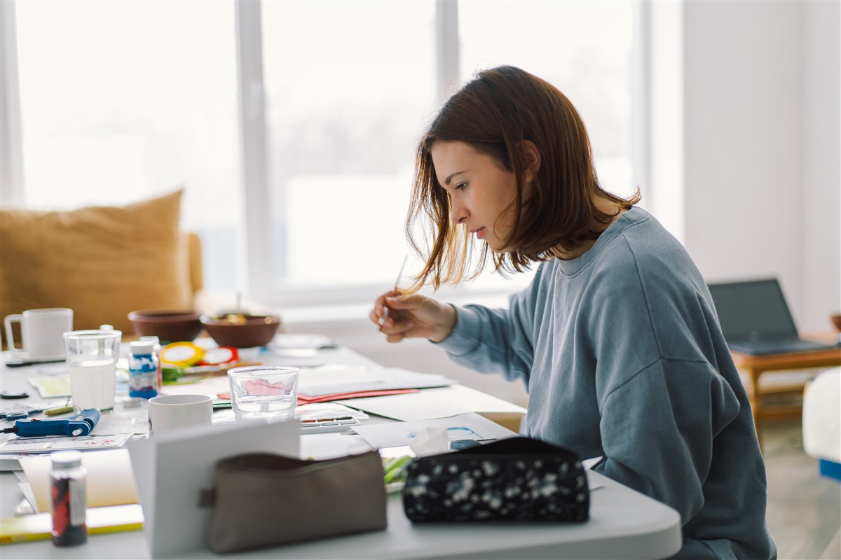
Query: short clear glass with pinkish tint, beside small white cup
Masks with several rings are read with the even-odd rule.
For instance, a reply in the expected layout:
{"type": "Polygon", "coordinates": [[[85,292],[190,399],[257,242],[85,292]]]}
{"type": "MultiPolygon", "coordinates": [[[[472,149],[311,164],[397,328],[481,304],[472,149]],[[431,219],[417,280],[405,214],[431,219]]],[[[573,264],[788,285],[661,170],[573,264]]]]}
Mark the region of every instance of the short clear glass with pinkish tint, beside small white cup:
{"type": "Polygon", "coordinates": [[[228,370],[230,403],[237,421],[287,421],[298,401],[298,368],[254,365],[228,370]]]}

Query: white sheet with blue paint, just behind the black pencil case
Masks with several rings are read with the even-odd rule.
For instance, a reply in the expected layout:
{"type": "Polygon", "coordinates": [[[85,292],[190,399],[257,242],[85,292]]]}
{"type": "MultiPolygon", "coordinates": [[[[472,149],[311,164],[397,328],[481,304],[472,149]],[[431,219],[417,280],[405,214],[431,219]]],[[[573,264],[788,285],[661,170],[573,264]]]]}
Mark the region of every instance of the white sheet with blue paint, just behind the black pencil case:
{"type": "Polygon", "coordinates": [[[504,439],[517,435],[516,432],[511,432],[508,428],[501,427],[475,412],[433,420],[363,424],[355,427],[354,432],[368,440],[373,447],[397,447],[410,445],[427,427],[445,428],[448,442],[463,439],[473,441],[504,439]]]}

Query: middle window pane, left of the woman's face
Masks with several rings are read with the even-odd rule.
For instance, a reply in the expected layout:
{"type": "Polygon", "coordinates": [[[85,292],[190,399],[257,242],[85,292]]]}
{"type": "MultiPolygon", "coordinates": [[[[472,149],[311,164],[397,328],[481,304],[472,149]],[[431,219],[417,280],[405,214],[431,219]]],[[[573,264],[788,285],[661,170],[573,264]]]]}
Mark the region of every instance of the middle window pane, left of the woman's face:
{"type": "Polygon", "coordinates": [[[431,2],[263,3],[275,290],[393,281],[436,99],[434,16],[431,2]]]}

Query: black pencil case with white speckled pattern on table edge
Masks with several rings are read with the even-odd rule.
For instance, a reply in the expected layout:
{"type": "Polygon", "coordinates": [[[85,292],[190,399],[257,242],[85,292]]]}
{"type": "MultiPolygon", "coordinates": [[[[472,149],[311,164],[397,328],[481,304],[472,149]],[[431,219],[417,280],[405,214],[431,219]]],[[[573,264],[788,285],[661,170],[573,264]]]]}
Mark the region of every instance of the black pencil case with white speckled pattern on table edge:
{"type": "Polygon", "coordinates": [[[413,459],[403,509],[413,522],[586,521],[590,490],[575,453],[511,437],[413,459]]]}

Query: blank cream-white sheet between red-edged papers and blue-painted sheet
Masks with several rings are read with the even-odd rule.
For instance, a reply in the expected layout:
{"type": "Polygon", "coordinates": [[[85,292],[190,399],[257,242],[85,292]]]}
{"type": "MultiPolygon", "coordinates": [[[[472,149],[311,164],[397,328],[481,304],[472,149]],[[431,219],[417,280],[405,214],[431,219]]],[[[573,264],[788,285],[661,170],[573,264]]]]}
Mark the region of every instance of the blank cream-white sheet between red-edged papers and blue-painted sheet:
{"type": "Polygon", "coordinates": [[[369,414],[395,420],[412,421],[444,418],[464,412],[513,412],[526,414],[522,406],[486,395],[464,385],[424,389],[405,395],[372,396],[363,399],[336,400],[369,414]]]}

